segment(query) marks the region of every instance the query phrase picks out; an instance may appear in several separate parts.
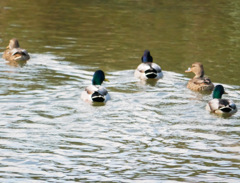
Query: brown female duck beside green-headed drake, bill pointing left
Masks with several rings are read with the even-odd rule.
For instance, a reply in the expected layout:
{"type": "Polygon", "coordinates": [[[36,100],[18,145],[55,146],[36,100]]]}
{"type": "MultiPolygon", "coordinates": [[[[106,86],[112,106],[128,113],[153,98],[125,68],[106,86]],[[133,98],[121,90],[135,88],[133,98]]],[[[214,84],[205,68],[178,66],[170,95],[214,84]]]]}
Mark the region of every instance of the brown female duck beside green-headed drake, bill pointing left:
{"type": "Polygon", "coordinates": [[[193,91],[211,92],[214,88],[213,83],[207,77],[204,77],[203,65],[200,62],[195,62],[192,67],[185,72],[193,72],[195,76],[188,81],[187,88],[193,91]]]}

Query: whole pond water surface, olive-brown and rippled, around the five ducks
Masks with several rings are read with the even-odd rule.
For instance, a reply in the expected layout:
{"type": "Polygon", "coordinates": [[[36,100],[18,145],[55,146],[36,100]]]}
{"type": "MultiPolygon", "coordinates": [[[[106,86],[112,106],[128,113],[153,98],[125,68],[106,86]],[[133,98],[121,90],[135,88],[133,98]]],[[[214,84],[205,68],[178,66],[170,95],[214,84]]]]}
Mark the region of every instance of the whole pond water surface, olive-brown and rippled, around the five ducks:
{"type": "Polygon", "coordinates": [[[0,3],[2,50],[18,37],[31,53],[0,59],[1,182],[239,182],[240,113],[209,114],[183,72],[202,61],[240,109],[238,2],[30,2],[0,3]],[[145,48],[156,84],[133,77],[145,48]],[[99,68],[112,99],[89,105],[99,68]]]}

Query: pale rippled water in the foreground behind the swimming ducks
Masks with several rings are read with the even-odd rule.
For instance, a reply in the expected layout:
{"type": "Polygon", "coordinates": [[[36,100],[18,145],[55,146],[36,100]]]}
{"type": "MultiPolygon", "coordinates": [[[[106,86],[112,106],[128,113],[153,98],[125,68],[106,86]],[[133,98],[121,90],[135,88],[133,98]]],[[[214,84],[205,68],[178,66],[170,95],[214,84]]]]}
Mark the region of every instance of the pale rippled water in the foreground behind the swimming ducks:
{"type": "MultiPolygon", "coordinates": [[[[143,84],[133,70],[107,72],[112,99],[94,106],[80,94],[96,68],[59,59],[1,63],[3,181],[239,181],[240,115],[209,114],[211,96],[188,90],[188,78],[164,71],[143,84]]],[[[239,86],[224,86],[238,105],[239,86]]]]}

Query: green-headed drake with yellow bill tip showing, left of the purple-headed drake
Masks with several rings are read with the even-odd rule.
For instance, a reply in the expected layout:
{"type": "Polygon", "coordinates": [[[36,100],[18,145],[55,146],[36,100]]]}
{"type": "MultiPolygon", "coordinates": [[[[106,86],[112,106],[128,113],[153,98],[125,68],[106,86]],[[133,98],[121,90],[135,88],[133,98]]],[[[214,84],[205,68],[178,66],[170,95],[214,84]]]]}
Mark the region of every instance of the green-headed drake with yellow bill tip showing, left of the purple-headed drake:
{"type": "Polygon", "coordinates": [[[87,102],[106,102],[110,95],[105,87],[101,86],[103,81],[108,81],[102,70],[97,70],[92,79],[92,85],[86,87],[82,92],[81,98],[87,102]]]}

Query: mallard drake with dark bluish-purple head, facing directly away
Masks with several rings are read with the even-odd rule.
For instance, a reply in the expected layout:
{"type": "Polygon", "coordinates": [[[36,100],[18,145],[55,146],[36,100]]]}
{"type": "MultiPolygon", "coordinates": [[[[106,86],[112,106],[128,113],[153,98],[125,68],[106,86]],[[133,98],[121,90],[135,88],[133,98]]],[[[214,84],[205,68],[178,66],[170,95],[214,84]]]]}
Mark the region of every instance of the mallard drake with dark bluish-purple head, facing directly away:
{"type": "Polygon", "coordinates": [[[134,76],[141,80],[160,79],[163,77],[161,67],[153,63],[149,50],[145,50],[142,56],[142,63],[135,70],[134,76]]]}

